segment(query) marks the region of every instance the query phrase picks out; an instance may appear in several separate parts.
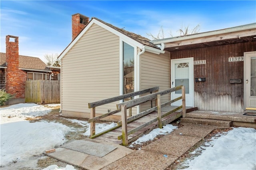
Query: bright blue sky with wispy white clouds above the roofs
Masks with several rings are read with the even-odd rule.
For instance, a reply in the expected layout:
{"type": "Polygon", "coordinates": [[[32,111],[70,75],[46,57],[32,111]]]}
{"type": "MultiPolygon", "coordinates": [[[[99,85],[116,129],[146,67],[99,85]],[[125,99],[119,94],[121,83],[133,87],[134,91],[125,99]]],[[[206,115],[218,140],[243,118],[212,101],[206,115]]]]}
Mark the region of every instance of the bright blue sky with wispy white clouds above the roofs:
{"type": "Polygon", "coordinates": [[[60,54],[71,42],[71,16],[96,17],[127,31],[165,38],[181,26],[207,32],[256,22],[256,1],[0,1],[1,52],[6,35],[19,37],[19,54],[60,54]]]}

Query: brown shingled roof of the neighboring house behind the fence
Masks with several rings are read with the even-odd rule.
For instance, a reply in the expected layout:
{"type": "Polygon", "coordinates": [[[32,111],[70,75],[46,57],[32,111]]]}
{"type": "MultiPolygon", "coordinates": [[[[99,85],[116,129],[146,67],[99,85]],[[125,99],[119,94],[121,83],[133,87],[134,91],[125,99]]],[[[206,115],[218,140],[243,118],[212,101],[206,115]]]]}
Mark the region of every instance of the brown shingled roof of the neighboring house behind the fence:
{"type": "MultiPolygon", "coordinates": [[[[0,53],[0,66],[6,66],[6,53],[0,53]]],[[[25,55],[19,55],[19,68],[20,69],[38,69],[38,70],[48,70],[46,64],[38,57],[29,57],[25,55]]]]}

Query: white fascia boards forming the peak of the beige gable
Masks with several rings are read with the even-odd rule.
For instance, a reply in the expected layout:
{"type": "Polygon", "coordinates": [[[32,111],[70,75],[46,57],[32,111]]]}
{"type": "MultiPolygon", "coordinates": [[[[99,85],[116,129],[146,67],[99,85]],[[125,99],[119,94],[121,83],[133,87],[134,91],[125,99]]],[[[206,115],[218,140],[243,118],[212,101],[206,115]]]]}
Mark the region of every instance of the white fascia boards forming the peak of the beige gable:
{"type": "Polygon", "coordinates": [[[102,28],[108,30],[109,32],[112,32],[113,34],[116,34],[117,36],[122,38],[125,42],[130,42],[130,43],[136,45],[137,47],[140,47],[140,49],[142,49],[143,45],[141,43],[133,40],[132,38],[130,38],[128,36],[125,36],[124,34],[120,33],[119,31],[117,31],[113,28],[111,28],[110,26],[107,26],[106,24],[103,24],[102,22],[96,20],[95,18],[92,18],[92,20],[88,23],[88,25],[86,25],[86,27],[82,30],[82,32],[80,32],[80,34],[78,34],[78,36],[61,53],[61,55],[58,57],[59,61],[66,55],[66,53],[68,53],[68,51],[76,44],[76,42],[90,29],[92,24],[97,24],[98,26],[101,26],[102,28]]]}

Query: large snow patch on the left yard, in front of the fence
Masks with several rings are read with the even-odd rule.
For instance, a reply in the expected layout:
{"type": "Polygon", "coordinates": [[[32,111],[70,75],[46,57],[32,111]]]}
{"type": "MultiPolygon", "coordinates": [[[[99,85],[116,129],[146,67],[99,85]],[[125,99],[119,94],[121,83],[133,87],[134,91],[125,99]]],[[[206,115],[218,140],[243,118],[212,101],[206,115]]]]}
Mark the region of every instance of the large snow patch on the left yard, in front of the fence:
{"type": "Polygon", "coordinates": [[[51,110],[47,105],[34,103],[21,103],[0,109],[1,167],[12,162],[27,162],[45,150],[64,144],[64,136],[71,128],[60,123],[30,123],[25,120],[47,114],[51,110]]]}

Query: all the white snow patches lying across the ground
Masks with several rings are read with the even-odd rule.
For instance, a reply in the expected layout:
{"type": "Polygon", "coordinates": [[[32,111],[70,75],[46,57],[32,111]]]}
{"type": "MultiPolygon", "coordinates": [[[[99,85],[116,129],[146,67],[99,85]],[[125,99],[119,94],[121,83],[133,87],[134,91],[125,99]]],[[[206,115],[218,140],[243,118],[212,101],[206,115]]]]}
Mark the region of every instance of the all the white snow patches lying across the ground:
{"type": "MultiPolygon", "coordinates": [[[[0,108],[1,115],[1,169],[30,168],[38,169],[37,161],[45,150],[58,147],[67,141],[69,132],[78,130],[54,121],[29,122],[26,119],[48,114],[58,105],[17,104],[0,108]]],[[[87,121],[67,119],[90,129],[87,121]]],[[[96,132],[113,127],[115,123],[96,124],[96,132]]],[[[142,136],[131,144],[153,140],[158,134],[168,134],[175,128],[166,125],[163,129],[155,129],[142,136]]],[[[89,131],[84,133],[88,136],[89,131]]],[[[254,128],[234,128],[226,135],[212,138],[206,143],[202,154],[184,162],[187,169],[256,169],[256,130],[254,128]]],[[[202,148],[202,147],[201,147],[202,148]]],[[[196,153],[197,151],[195,151],[196,153]]],[[[58,166],[52,165],[45,170],[56,170],[58,166]]],[[[67,165],[62,170],[72,170],[67,165]]]]}

